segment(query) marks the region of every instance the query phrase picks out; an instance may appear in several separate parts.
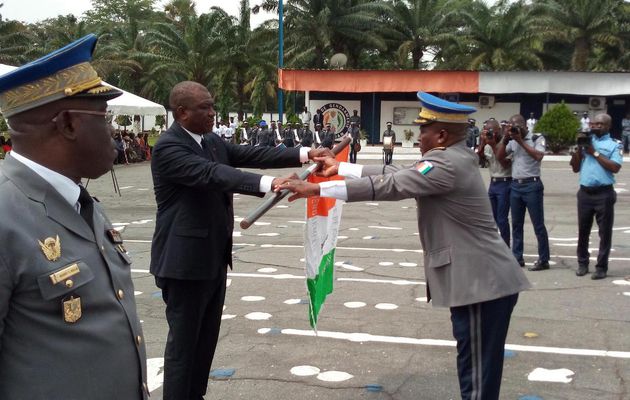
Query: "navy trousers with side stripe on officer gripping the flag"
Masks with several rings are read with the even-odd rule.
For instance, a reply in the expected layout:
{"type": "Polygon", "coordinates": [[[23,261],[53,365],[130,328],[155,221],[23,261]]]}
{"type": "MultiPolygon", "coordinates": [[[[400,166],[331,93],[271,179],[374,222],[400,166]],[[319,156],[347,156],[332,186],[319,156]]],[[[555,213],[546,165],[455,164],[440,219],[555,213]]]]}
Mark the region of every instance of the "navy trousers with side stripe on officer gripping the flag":
{"type": "Polygon", "coordinates": [[[518,293],[451,307],[462,400],[499,399],[505,338],[517,300],[518,293]]]}

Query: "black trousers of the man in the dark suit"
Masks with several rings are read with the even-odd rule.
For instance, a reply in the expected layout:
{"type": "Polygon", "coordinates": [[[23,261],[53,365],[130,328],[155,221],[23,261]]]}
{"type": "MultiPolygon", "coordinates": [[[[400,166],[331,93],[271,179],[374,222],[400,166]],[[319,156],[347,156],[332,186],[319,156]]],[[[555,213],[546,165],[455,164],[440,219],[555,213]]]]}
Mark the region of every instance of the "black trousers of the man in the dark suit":
{"type": "Polygon", "coordinates": [[[225,275],[217,279],[155,278],[166,303],[164,400],[201,400],[219,339],[225,275]]]}

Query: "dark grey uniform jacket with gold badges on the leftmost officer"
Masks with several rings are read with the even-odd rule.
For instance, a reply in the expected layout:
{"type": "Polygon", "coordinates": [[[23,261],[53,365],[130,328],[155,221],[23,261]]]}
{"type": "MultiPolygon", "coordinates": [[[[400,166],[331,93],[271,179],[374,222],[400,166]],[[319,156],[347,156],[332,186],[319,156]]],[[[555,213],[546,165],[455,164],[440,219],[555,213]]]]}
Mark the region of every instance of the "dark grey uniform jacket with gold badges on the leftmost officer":
{"type": "Polygon", "coordinates": [[[96,202],[93,220],[94,231],[48,182],[7,157],[0,171],[0,399],[147,398],[131,261],[107,234],[112,225],[96,202]],[[46,238],[58,245],[48,256],[38,243],[46,238]],[[76,298],[79,308],[64,311],[64,301],[76,298]],[[65,321],[79,309],[78,320],[65,321]]]}

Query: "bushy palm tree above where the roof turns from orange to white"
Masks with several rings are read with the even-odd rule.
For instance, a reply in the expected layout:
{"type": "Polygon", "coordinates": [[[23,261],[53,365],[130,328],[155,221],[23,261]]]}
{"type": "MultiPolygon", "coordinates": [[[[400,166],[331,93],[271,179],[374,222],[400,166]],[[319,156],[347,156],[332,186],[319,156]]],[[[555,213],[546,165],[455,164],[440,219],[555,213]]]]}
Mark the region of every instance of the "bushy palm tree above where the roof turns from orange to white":
{"type": "Polygon", "coordinates": [[[465,22],[444,48],[440,67],[478,71],[541,70],[543,42],[523,0],[494,6],[471,3],[458,13],[465,22]]]}

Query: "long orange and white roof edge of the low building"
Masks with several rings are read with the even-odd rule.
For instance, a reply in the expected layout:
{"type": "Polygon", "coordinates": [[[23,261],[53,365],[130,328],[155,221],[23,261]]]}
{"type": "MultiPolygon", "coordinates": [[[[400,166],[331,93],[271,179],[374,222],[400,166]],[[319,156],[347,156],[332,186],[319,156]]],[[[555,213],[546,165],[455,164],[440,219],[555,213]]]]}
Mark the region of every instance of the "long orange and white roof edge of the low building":
{"type": "Polygon", "coordinates": [[[279,69],[278,85],[288,91],[346,93],[424,91],[617,96],[630,95],[630,73],[279,69]]]}

